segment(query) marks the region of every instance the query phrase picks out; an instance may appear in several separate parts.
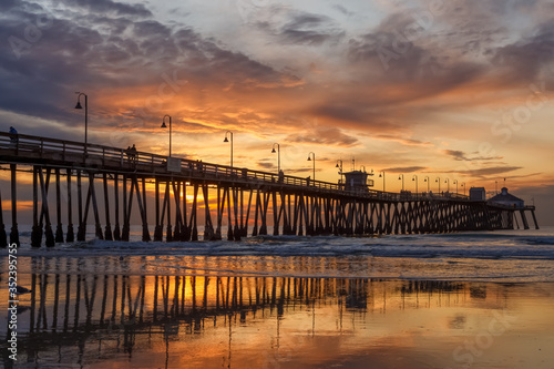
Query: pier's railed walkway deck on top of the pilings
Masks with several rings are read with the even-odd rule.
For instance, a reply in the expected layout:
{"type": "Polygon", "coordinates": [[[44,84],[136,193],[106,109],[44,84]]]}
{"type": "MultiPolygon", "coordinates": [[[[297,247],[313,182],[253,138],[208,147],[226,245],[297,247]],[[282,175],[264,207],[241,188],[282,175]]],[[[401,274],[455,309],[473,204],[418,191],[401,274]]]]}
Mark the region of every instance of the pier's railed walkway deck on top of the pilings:
{"type": "Polygon", "coordinates": [[[184,175],[194,178],[214,181],[229,181],[233,183],[265,184],[304,188],[325,193],[352,195],[362,198],[383,201],[418,201],[418,199],[468,199],[468,196],[447,193],[391,193],[367,189],[345,189],[342,184],[314,181],[291,175],[279,175],[263,171],[253,171],[236,166],[205,163],[202,161],[174,157],[181,161],[181,171],[170,172],[167,156],[142,151],[130,151],[99,144],[84,144],[82,142],[40,137],[27,134],[10,134],[0,132],[0,157],[16,160],[22,163],[48,161],[70,162],[84,167],[110,167],[122,172],[140,172],[141,174],[155,173],[167,175],[184,175]]]}

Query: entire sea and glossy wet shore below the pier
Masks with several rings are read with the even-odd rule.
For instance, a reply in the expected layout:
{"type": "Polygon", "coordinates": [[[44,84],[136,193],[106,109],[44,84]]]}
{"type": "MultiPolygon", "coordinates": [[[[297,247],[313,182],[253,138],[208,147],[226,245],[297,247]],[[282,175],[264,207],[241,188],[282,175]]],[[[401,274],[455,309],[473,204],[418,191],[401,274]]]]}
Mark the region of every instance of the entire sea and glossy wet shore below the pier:
{"type": "Polygon", "coordinates": [[[132,230],[33,249],[23,227],[18,284],[32,293],[18,297],[17,361],[0,300],[6,368],[554,368],[554,227],[195,243],[132,230]]]}

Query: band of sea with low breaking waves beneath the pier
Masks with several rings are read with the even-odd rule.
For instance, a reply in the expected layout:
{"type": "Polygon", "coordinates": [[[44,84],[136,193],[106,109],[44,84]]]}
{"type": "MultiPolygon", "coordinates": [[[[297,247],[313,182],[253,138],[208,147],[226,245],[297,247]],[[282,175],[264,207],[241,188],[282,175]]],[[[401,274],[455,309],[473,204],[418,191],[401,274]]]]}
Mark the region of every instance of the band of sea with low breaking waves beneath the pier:
{"type": "Polygon", "coordinates": [[[163,275],[194,270],[295,277],[554,281],[554,227],[371,237],[257,236],[242,242],[194,243],[141,242],[141,228],[136,227],[131,242],[98,240],[94,234],[88,238],[31,249],[30,232],[23,232],[19,255],[74,257],[84,264],[96,257],[147,257],[141,273],[147,269],[163,275]],[[218,269],[211,260],[224,263],[224,267],[218,269]]]}

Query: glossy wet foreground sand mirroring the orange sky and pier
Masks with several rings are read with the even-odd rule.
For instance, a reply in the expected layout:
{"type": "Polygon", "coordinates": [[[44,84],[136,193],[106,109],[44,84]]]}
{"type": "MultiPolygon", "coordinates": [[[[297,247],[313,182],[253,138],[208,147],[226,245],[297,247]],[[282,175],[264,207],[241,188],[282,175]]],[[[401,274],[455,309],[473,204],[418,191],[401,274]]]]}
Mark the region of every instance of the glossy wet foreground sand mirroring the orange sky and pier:
{"type": "Polygon", "coordinates": [[[350,262],[368,259],[22,258],[21,367],[552,367],[552,283],[324,277],[350,262]]]}

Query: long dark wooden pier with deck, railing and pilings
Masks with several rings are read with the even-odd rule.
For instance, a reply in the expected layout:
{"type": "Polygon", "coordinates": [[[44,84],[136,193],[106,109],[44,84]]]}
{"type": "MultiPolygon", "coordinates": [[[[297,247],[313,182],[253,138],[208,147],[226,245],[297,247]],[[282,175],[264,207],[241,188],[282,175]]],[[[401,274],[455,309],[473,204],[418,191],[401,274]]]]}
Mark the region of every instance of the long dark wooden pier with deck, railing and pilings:
{"type": "MultiPolygon", "coordinates": [[[[10,243],[19,244],[18,188],[29,186],[27,180],[32,182],[34,247],[41,246],[43,235],[47,246],[84,240],[91,211],[95,236],[109,240],[129,240],[134,212],[141,218],[143,240],[151,240],[151,224],[153,239],[168,242],[197,240],[199,228],[205,240],[222,239],[225,227],[229,240],[266,235],[268,226],[274,235],[507,229],[514,227],[517,213],[529,228],[525,212],[531,212],[537,227],[534,206],[515,209],[459,194],[346,189],[340,184],[103,145],[23,134],[13,139],[0,133],[0,166],[11,175],[10,243]],[[154,204],[148,205],[152,185],[154,204]]],[[[1,214],[0,208],[0,244],[6,246],[1,214]]]]}

